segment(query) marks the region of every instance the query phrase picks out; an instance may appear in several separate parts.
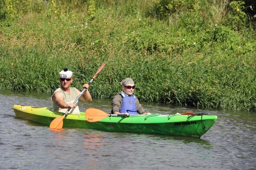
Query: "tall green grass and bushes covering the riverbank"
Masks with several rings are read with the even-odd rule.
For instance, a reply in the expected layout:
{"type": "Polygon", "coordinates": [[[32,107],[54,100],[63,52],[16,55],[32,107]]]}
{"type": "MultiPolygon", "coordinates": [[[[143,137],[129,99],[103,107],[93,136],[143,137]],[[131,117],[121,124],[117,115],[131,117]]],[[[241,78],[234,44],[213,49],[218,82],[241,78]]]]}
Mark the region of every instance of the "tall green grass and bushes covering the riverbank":
{"type": "MultiPolygon", "coordinates": [[[[253,2],[254,3],[254,2],[253,2]]],[[[224,0],[3,0],[0,88],[52,93],[63,68],[112,98],[255,111],[255,4],[224,0]]]]}

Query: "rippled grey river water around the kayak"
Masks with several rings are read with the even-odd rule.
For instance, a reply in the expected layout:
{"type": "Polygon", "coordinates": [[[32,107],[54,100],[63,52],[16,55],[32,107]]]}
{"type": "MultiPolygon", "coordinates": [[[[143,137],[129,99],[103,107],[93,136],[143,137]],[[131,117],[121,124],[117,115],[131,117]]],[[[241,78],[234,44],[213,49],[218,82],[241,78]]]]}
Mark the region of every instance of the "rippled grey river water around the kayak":
{"type": "MultiPolygon", "coordinates": [[[[201,136],[113,133],[95,129],[49,130],[16,118],[13,105],[52,106],[51,94],[0,90],[0,169],[256,169],[256,113],[141,103],[152,113],[207,112],[218,119],[201,136]]],[[[80,110],[111,110],[93,99],[80,110]]]]}

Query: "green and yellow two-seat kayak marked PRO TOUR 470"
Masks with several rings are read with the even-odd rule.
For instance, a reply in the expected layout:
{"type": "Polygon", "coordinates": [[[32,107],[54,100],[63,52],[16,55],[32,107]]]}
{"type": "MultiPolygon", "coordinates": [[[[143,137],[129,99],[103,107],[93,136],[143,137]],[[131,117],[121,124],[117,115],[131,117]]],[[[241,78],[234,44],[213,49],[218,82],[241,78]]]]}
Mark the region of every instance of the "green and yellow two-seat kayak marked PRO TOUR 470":
{"type": "MultiPolygon", "coordinates": [[[[63,115],[62,112],[53,111],[47,107],[31,107],[14,105],[16,117],[28,119],[34,122],[50,125],[51,122],[63,115]]],[[[111,115],[98,109],[93,110],[89,116],[86,112],[79,114],[67,114],[63,119],[63,127],[99,129],[110,132],[147,133],[179,136],[200,137],[205,134],[216,122],[216,115],[200,114],[149,114],[130,115],[129,117],[111,115]],[[102,117],[99,113],[105,113],[102,117]],[[98,116],[98,117],[97,117],[98,116]],[[89,117],[89,118],[88,118],[89,117]],[[97,120],[99,117],[99,120],[97,120]],[[95,121],[91,121],[91,120],[95,121]]]]}

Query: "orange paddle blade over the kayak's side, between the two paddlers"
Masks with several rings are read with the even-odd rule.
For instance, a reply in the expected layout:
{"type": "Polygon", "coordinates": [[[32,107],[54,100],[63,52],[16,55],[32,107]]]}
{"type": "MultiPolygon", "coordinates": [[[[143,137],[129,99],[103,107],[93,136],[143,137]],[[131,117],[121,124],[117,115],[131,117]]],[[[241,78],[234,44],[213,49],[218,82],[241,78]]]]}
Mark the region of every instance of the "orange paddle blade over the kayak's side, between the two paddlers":
{"type": "Polygon", "coordinates": [[[104,111],[99,109],[89,108],[85,111],[85,120],[87,120],[88,122],[97,122],[108,116],[108,113],[105,113],[104,111]]]}

